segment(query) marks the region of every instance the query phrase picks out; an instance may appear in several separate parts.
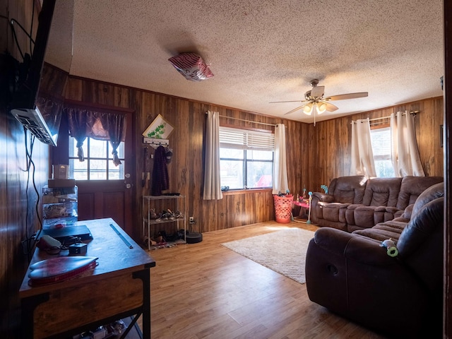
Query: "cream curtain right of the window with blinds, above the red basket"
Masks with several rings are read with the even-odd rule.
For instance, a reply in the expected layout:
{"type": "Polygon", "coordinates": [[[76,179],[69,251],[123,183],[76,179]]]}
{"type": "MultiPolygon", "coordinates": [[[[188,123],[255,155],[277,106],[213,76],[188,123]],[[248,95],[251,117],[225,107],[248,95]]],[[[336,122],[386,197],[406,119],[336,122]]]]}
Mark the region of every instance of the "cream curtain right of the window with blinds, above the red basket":
{"type": "Polygon", "coordinates": [[[287,165],[285,159],[285,126],[275,126],[275,159],[273,160],[273,194],[289,190],[287,165]]]}

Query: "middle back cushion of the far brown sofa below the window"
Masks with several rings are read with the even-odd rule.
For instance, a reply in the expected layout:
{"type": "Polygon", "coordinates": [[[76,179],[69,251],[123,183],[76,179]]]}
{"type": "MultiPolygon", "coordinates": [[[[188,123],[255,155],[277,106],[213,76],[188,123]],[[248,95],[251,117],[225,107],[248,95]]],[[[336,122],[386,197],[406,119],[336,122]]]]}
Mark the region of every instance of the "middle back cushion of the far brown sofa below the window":
{"type": "Polygon", "coordinates": [[[374,178],[367,180],[362,204],[364,206],[396,207],[402,178],[374,178]]]}

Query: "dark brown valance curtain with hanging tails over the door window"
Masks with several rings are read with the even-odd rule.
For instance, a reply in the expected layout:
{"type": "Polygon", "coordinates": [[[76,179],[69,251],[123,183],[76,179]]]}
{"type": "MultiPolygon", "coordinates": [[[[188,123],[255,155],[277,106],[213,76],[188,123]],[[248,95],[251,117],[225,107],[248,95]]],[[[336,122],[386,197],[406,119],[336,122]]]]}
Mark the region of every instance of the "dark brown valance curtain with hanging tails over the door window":
{"type": "Polygon", "coordinates": [[[84,161],[83,142],[87,137],[109,141],[112,145],[113,163],[118,166],[121,161],[117,148],[126,140],[126,114],[97,112],[81,107],[64,107],[68,117],[69,133],[76,138],[78,160],[84,161]]]}

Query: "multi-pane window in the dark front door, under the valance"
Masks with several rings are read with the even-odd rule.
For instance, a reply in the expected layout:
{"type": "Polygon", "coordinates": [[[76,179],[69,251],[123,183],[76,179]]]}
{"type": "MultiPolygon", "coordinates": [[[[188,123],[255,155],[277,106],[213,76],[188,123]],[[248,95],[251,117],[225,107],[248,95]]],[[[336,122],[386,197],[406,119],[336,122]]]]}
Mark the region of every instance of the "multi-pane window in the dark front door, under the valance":
{"type": "Polygon", "coordinates": [[[75,138],[69,138],[69,177],[76,180],[124,179],[124,142],[117,151],[121,165],[113,163],[112,145],[109,141],[86,138],[83,142],[85,161],[78,160],[75,138]]]}

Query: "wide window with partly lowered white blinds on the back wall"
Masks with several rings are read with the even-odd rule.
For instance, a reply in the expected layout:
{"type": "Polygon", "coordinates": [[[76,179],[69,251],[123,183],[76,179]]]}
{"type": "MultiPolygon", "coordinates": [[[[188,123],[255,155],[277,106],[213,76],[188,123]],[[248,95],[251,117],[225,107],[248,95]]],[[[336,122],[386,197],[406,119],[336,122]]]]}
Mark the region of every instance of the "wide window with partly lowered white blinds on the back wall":
{"type": "Polygon", "coordinates": [[[270,188],[275,135],[220,126],[221,186],[229,189],[270,188]]]}

